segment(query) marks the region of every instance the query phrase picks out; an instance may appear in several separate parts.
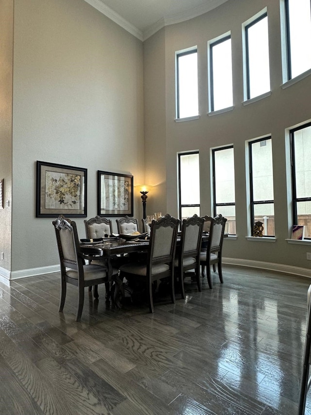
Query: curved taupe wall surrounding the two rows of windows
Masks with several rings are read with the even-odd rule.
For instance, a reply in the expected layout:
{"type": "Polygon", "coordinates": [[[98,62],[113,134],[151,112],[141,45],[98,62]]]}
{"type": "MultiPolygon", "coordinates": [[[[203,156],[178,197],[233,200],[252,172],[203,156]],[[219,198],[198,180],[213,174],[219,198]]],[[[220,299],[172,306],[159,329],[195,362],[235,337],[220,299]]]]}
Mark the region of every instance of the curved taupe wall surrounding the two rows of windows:
{"type": "MultiPolygon", "coordinates": [[[[154,95],[165,87],[164,99],[157,103],[154,118],[166,128],[159,130],[161,143],[166,142],[166,200],[167,210],[177,215],[177,163],[176,154],[180,151],[199,150],[201,174],[201,215],[211,214],[210,192],[210,148],[226,144],[234,145],[237,240],[226,240],[224,255],[227,258],[266,263],[285,264],[293,267],[310,268],[306,260],[308,246],[288,244],[290,237],[291,206],[288,203],[286,179],[285,130],[311,119],[311,76],[302,79],[287,89],[282,89],[280,10],[279,0],[231,0],[217,9],[186,22],[167,26],[163,35],[155,34],[145,42],[145,71],[148,72],[148,85],[152,84],[154,95]],[[242,23],[267,6],[270,42],[271,96],[247,106],[243,101],[242,74],[242,23]],[[231,31],[233,59],[234,109],[219,115],[208,116],[207,99],[207,41],[231,31]],[[197,45],[199,71],[199,113],[198,120],[176,123],[175,118],[175,51],[197,45]],[[156,59],[162,51],[165,59],[165,80],[158,79],[158,71],[163,71],[163,61],[156,59]],[[151,65],[152,63],[152,65],[151,65]],[[157,88],[158,87],[158,88],[157,88]],[[165,117],[163,116],[165,108],[165,117]],[[245,180],[245,141],[272,135],[274,161],[274,189],[276,215],[276,242],[248,241],[246,180],[245,180]]],[[[146,76],[146,75],[145,75],[146,76]]],[[[163,94],[160,95],[163,98],[163,94]]],[[[152,108],[154,96],[145,94],[145,108],[152,108]]],[[[152,147],[154,132],[145,133],[146,165],[163,154],[163,147],[152,147]]],[[[162,171],[160,173],[162,175],[162,171]]],[[[162,200],[162,199],[160,199],[162,200]]],[[[159,206],[160,208],[160,206],[159,206]]]]}

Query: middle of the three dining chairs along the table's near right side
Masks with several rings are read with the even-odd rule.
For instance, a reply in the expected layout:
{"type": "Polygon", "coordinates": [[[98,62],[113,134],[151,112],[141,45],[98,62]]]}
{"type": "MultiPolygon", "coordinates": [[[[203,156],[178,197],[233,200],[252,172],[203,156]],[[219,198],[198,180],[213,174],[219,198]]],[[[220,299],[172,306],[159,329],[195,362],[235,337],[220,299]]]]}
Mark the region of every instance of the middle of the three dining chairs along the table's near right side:
{"type": "Polygon", "coordinates": [[[197,215],[183,219],[181,227],[180,245],[176,251],[174,267],[175,277],[179,281],[181,297],[185,298],[185,272],[195,270],[195,280],[198,290],[201,291],[200,279],[200,252],[204,218],[197,215]]]}

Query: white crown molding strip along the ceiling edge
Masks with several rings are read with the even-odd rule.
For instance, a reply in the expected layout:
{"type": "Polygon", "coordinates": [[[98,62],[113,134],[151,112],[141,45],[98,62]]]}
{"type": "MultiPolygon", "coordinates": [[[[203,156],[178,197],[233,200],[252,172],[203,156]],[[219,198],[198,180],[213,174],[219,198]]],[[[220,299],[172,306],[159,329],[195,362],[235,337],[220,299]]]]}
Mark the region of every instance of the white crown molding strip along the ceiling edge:
{"type": "Polygon", "coordinates": [[[189,20],[191,18],[196,18],[198,16],[203,15],[204,13],[210,12],[211,10],[215,9],[216,7],[224,4],[228,0],[208,0],[206,3],[202,4],[201,6],[194,7],[190,10],[186,10],[185,12],[177,13],[171,16],[164,16],[153,25],[149,26],[144,32],[141,32],[137,27],[135,27],[132,23],[128,22],[124,18],[122,18],[118,13],[113,11],[110,7],[106,6],[103,1],[101,0],[84,0],[86,3],[93,6],[99,12],[103,13],[103,15],[110,18],[115,23],[119,24],[123,29],[129,32],[131,35],[136,36],[139,40],[146,40],[148,37],[154,35],[164,26],[168,26],[174,23],[180,23],[182,21],[189,20]]]}

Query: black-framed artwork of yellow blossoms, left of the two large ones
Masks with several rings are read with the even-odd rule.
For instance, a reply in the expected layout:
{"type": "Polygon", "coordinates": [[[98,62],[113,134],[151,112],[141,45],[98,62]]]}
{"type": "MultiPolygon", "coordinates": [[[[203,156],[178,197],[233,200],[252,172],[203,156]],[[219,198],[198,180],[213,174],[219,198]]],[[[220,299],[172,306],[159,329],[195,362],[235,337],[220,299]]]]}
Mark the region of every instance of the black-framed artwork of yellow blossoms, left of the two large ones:
{"type": "Polygon", "coordinates": [[[87,169],[37,161],[36,217],[86,217],[87,169]]]}

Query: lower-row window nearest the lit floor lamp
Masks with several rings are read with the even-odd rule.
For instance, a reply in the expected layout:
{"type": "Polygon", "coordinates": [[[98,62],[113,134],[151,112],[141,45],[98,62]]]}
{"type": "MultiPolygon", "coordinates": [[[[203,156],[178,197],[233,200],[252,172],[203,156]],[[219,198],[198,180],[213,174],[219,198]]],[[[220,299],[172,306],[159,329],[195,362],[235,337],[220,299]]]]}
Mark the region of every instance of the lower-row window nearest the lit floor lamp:
{"type": "Polygon", "coordinates": [[[178,154],[179,218],[200,216],[199,153],[178,154]]]}

